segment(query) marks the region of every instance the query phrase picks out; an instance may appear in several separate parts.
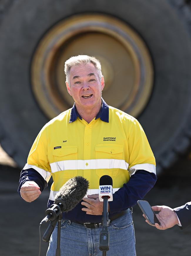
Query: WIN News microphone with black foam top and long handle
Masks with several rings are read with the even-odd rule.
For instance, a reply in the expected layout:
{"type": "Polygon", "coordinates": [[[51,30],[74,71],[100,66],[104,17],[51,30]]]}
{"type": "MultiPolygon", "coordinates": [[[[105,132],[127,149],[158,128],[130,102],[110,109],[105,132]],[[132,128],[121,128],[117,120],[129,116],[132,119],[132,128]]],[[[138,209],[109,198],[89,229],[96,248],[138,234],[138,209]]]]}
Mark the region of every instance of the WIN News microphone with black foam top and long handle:
{"type": "Polygon", "coordinates": [[[99,199],[103,201],[103,227],[100,231],[99,249],[104,252],[109,250],[109,231],[108,231],[108,201],[113,201],[113,180],[108,175],[100,178],[99,199]]]}

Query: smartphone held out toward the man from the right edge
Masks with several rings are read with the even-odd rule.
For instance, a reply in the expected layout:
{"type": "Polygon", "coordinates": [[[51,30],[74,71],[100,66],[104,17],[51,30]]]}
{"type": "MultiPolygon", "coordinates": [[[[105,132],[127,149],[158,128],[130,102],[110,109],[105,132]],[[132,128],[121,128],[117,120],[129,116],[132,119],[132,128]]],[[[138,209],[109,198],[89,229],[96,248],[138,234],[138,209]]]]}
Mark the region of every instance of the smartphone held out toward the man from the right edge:
{"type": "Polygon", "coordinates": [[[147,201],[138,200],[137,203],[151,225],[155,226],[155,223],[158,223],[160,225],[160,221],[157,219],[156,214],[154,213],[153,209],[147,201]]]}

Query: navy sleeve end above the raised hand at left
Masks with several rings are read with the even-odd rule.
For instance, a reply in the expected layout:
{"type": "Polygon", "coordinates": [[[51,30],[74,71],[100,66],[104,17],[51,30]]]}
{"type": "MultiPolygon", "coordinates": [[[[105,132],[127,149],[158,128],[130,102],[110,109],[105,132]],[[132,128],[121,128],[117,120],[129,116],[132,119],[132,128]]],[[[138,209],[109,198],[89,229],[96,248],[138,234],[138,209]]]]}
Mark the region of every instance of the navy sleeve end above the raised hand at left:
{"type": "Polygon", "coordinates": [[[26,182],[26,181],[34,181],[38,186],[40,187],[41,192],[45,189],[45,187],[48,186],[46,180],[38,173],[36,170],[33,168],[22,170],[21,175],[20,175],[20,180],[19,180],[19,188],[18,192],[19,195],[21,191],[21,186],[26,182]]]}

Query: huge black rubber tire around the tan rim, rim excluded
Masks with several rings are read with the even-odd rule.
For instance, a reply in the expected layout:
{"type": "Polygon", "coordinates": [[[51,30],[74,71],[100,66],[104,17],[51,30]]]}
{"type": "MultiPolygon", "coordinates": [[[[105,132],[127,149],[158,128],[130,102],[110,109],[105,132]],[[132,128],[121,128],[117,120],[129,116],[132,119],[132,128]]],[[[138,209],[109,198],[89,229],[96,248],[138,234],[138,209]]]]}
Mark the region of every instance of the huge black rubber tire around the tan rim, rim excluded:
{"type": "MultiPolygon", "coordinates": [[[[190,10],[184,10],[190,14],[190,10]]],[[[4,1],[0,25],[0,143],[20,167],[48,118],[31,91],[30,62],[44,33],[73,14],[105,13],[133,27],[147,44],[155,69],[150,100],[139,115],[158,172],[175,162],[191,136],[191,40],[177,1],[4,1]]],[[[188,16],[187,16],[188,17],[188,16]]]]}

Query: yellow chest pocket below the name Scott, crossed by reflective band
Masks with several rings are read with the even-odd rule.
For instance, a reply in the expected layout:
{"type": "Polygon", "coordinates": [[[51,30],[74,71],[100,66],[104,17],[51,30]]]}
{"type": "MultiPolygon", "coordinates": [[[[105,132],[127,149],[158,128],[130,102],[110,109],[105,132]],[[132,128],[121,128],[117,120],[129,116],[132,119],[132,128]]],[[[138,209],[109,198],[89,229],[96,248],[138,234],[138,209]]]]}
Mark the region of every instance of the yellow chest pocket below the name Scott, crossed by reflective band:
{"type": "Polygon", "coordinates": [[[78,146],[64,146],[61,149],[54,149],[52,154],[54,163],[51,166],[54,168],[54,172],[63,171],[59,173],[61,179],[72,178],[77,175],[78,146]]]}

